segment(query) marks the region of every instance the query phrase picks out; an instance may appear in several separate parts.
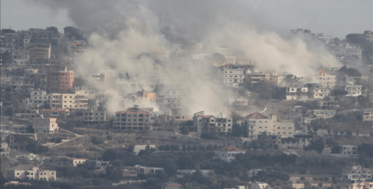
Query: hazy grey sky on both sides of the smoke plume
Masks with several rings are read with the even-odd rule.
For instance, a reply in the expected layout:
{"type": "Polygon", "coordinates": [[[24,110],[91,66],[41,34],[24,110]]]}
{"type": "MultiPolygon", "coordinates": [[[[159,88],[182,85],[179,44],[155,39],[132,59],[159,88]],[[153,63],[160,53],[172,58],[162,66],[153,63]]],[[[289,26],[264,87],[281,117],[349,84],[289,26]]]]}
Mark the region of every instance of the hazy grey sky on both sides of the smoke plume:
{"type": "MultiPolygon", "coordinates": [[[[156,1],[155,1],[156,2],[156,1]]],[[[344,38],[373,27],[373,0],[239,0],[251,15],[267,20],[280,31],[310,29],[313,33],[344,38]]],[[[153,1],[154,3],[154,1],[153,1]]],[[[0,1],[0,27],[23,30],[75,25],[66,9],[50,9],[25,0],[0,1]]]]}

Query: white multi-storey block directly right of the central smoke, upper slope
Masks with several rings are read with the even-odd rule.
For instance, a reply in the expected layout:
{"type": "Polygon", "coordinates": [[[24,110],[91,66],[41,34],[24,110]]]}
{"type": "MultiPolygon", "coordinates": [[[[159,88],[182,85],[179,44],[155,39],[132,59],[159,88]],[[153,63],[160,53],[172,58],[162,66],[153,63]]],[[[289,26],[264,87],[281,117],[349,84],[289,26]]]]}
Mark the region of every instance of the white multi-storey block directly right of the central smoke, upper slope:
{"type": "Polygon", "coordinates": [[[240,69],[235,65],[226,64],[220,66],[222,69],[222,76],[223,76],[223,85],[233,87],[233,88],[240,88],[243,87],[243,83],[245,81],[245,70],[240,69]]]}

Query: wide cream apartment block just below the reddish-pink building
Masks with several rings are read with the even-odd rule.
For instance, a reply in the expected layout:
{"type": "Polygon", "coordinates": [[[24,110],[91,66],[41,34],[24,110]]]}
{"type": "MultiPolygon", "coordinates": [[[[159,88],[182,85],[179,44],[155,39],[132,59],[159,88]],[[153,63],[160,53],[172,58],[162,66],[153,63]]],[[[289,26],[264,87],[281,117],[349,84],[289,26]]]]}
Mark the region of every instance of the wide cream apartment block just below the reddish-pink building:
{"type": "Polygon", "coordinates": [[[84,93],[76,94],[50,94],[51,109],[87,109],[88,96],[84,93]]]}

